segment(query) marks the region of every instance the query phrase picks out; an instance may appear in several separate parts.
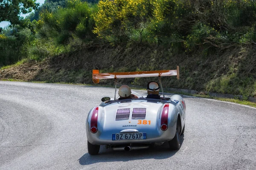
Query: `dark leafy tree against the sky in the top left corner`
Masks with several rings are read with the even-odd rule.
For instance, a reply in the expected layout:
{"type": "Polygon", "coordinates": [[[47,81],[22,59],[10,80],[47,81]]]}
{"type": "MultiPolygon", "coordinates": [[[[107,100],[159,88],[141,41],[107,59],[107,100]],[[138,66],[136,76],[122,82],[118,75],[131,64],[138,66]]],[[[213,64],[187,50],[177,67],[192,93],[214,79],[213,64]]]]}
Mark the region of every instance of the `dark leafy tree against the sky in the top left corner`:
{"type": "Polygon", "coordinates": [[[38,6],[39,3],[36,3],[36,0],[0,0],[0,22],[21,24],[23,17],[20,17],[20,14],[27,14],[38,6]]]}

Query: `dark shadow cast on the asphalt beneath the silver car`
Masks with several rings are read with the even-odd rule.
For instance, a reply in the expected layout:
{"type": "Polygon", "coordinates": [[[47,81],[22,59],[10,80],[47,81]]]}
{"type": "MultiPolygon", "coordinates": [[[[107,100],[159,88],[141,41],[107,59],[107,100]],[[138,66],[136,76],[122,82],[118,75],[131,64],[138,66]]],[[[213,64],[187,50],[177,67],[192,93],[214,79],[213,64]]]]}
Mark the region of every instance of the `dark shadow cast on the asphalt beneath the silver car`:
{"type": "MultiPolygon", "coordinates": [[[[184,135],[180,136],[180,143],[184,140],[184,135]]],[[[168,142],[161,146],[149,147],[145,150],[131,150],[131,151],[113,151],[111,148],[106,149],[101,147],[99,155],[91,156],[85,153],[80,159],[81,165],[95,164],[97,162],[112,162],[112,161],[131,161],[138,159],[166,159],[172,157],[178,150],[169,150],[168,142]]]]}

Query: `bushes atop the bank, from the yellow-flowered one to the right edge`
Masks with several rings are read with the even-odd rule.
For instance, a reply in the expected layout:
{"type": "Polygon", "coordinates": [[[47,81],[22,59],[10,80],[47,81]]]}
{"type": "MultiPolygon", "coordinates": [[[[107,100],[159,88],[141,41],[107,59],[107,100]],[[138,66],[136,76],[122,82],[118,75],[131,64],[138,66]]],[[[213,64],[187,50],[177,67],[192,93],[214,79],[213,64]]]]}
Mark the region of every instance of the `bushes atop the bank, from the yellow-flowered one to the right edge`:
{"type": "MultiPolygon", "coordinates": [[[[255,38],[252,0],[101,0],[94,33],[111,43],[222,50],[255,38]],[[248,30],[249,33],[248,33],[248,30]],[[183,45],[182,45],[183,44],[183,45]]],[[[177,50],[176,50],[177,51],[177,50]]]]}

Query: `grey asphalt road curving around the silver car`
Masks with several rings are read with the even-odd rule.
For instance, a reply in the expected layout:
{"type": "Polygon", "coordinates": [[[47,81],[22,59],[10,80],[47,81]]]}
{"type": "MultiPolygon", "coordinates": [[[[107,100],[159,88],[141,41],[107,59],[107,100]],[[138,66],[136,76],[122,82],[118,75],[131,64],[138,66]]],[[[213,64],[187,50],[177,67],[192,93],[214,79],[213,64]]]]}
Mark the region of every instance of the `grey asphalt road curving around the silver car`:
{"type": "Polygon", "coordinates": [[[113,88],[0,81],[0,170],[256,169],[256,109],[186,96],[180,150],[101,147],[90,156],[87,113],[113,95],[113,88]]]}

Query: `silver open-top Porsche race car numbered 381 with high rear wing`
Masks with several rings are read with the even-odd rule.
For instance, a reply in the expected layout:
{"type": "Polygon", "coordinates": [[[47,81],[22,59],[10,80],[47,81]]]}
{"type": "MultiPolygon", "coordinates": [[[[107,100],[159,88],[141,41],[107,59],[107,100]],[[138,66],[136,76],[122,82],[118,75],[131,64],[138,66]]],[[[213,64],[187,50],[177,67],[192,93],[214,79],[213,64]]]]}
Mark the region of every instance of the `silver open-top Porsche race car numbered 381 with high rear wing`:
{"type": "MultiPolygon", "coordinates": [[[[115,79],[115,96],[102,98],[102,103],[92,108],[87,116],[87,148],[90,155],[99,153],[101,145],[113,150],[146,149],[152,144],[169,143],[172,150],[180,149],[180,135],[184,133],[186,105],[179,95],[161,99],[116,99],[116,81],[119,78],[177,76],[177,70],[99,73],[93,70],[93,82],[115,79]]],[[[163,88],[162,88],[163,92],[163,88]]]]}

